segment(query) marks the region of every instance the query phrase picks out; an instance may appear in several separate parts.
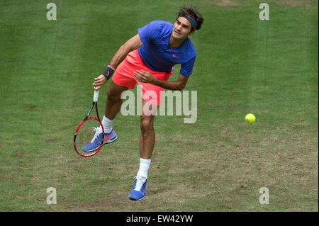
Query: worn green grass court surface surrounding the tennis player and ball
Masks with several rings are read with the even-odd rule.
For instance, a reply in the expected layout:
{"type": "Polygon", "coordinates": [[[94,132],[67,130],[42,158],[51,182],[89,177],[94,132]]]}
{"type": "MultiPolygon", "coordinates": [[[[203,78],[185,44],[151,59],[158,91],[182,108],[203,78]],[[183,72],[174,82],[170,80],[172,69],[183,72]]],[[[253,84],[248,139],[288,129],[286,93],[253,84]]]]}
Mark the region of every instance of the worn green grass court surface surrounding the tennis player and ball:
{"type": "Polygon", "coordinates": [[[318,211],[318,1],[267,0],[269,21],[264,1],[53,2],[56,21],[50,1],[0,3],[1,211],[318,211]],[[133,202],[139,116],[118,114],[118,140],[94,157],[74,151],[74,130],[118,47],[151,21],[174,23],[184,3],[205,19],[185,88],[197,120],[155,117],[146,196],[133,202]]]}

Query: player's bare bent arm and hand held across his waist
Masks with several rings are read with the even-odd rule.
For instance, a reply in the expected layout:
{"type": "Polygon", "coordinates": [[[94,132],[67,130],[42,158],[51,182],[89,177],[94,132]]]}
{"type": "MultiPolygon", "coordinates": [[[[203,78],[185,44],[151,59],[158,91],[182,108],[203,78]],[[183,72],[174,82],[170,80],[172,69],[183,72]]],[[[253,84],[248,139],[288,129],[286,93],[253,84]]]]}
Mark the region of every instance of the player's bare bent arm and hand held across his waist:
{"type": "Polygon", "coordinates": [[[189,79],[189,76],[184,76],[179,74],[179,77],[177,81],[163,81],[156,79],[152,76],[150,72],[145,71],[136,71],[134,73],[134,76],[136,80],[144,83],[150,83],[155,86],[162,87],[163,89],[169,89],[169,90],[183,90],[187,84],[187,80],[189,79]]]}

